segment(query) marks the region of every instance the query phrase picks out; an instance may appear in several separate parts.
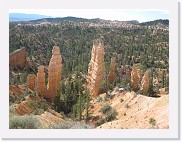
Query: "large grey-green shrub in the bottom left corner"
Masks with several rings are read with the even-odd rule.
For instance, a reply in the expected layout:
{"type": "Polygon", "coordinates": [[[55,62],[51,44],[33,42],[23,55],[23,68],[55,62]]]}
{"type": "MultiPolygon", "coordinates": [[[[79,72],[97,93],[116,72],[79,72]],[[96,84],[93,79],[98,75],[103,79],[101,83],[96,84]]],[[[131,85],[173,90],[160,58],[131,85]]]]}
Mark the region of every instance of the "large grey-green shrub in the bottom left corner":
{"type": "Polygon", "coordinates": [[[32,116],[14,116],[9,119],[10,129],[38,129],[40,123],[37,118],[32,116]]]}

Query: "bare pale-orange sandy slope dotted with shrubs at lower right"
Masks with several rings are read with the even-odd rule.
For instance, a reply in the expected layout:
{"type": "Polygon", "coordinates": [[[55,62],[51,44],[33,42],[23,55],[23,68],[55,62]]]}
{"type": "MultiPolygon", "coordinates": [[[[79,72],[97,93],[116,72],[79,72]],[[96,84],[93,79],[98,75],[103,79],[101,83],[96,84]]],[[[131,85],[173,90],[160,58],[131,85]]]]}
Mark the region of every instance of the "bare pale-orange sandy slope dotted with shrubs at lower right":
{"type": "Polygon", "coordinates": [[[98,126],[97,129],[169,128],[168,95],[153,98],[138,94],[134,97],[131,92],[115,92],[112,99],[107,101],[104,101],[104,95],[99,96],[103,101],[98,102],[97,98],[91,102],[93,105],[93,109],[91,109],[93,116],[104,118],[105,115],[100,110],[106,104],[109,104],[117,111],[117,116],[115,120],[106,121],[98,126]]]}

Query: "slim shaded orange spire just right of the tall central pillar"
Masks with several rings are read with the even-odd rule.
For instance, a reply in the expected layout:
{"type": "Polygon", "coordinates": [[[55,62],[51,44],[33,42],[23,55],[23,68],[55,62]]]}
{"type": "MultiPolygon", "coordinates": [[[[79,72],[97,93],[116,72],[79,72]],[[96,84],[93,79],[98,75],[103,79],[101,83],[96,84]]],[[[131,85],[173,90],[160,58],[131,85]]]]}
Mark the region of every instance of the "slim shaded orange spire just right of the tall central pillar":
{"type": "Polygon", "coordinates": [[[111,58],[108,80],[110,83],[113,83],[116,80],[116,58],[115,57],[111,58]]]}

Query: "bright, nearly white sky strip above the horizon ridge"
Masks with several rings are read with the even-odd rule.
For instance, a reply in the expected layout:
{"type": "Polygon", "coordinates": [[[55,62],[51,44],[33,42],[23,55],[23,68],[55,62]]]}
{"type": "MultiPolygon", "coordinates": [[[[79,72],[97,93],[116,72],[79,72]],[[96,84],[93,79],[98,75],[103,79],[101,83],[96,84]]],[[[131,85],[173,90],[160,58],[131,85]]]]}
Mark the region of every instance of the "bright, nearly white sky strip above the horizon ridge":
{"type": "Polygon", "coordinates": [[[169,12],[163,9],[10,9],[9,12],[53,17],[74,16],[119,21],[138,20],[139,22],[169,19],[169,12]]]}

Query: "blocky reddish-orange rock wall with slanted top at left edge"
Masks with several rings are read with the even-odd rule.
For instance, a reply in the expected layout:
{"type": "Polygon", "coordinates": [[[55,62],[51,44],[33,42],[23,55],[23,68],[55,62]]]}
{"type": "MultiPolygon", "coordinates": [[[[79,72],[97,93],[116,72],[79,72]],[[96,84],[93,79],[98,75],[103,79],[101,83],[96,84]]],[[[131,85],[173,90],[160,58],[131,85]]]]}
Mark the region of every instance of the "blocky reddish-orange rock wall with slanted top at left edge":
{"type": "Polygon", "coordinates": [[[9,56],[10,67],[24,67],[26,64],[26,49],[25,47],[15,50],[9,56]]]}

